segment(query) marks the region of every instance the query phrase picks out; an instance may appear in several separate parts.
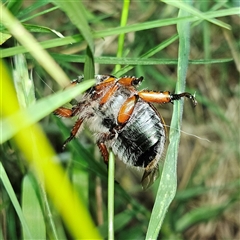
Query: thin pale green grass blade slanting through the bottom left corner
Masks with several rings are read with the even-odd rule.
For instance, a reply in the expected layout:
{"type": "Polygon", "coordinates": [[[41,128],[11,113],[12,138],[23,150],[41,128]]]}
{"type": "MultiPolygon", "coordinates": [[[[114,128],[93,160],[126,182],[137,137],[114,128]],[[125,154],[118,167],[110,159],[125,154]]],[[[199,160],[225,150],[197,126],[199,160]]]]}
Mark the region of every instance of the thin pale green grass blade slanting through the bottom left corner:
{"type": "Polygon", "coordinates": [[[16,211],[19,219],[20,219],[21,225],[24,229],[24,232],[26,233],[26,236],[28,238],[33,239],[32,234],[30,232],[30,229],[28,227],[27,221],[26,221],[26,219],[23,215],[21,206],[20,206],[20,204],[17,200],[16,194],[15,194],[13,188],[12,188],[12,185],[9,181],[9,178],[8,178],[8,176],[5,172],[5,169],[3,168],[3,165],[2,165],[1,162],[0,162],[0,179],[1,179],[1,181],[3,183],[3,186],[5,187],[5,189],[8,193],[9,198],[11,199],[12,205],[13,205],[13,207],[14,207],[14,209],[15,209],[15,211],[16,211]]]}

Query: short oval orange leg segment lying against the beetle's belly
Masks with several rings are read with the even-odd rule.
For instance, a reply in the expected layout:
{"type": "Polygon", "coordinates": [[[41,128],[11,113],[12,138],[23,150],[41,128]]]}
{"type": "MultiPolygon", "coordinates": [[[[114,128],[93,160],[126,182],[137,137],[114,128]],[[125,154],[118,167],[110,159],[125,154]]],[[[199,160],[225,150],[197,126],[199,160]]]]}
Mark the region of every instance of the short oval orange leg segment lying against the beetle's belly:
{"type": "Polygon", "coordinates": [[[121,106],[117,121],[120,125],[125,124],[132,115],[136,102],[138,100],[138,95],[133,95],[129,97],[121,106]]]}

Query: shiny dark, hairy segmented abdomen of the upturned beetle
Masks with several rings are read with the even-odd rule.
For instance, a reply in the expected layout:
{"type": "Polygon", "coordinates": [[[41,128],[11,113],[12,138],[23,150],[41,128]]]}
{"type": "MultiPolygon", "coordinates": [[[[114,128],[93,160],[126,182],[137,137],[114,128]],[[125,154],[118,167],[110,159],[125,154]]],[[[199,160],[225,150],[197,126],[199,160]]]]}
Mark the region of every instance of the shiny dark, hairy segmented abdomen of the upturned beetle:
{"type": "Polygon", "coordinates": [[[162,155],[166,133],[163,122],[152,106],[142,100],[112,142],[112,150],[123,162],[146,167],[162,155]]]}

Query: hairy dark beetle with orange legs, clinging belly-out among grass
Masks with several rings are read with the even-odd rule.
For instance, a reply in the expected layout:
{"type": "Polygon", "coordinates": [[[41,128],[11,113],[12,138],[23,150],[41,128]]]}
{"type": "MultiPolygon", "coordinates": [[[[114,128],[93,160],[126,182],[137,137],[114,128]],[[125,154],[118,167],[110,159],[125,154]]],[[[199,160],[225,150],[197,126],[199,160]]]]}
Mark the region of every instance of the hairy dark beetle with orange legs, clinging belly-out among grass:
{"type": "MultiPolygon", "coordinates": [[[[83,81],[79,76],[71,85],[83,81]]],[[[148,188],[158,178],[158,162],[166,142],[166,126],[153,103],[173,103],[183,97],[195,97],[183,92],[137,90],[143,77],[96,75],[96,84],[88,89],[71,109],[60,107],[54,111],[59,117],[77,117],[66,145],[86,124],[96,138],[96,143],[108,164],[111,149],[125,164],[144,169],[142,186],[148,188]]]]}

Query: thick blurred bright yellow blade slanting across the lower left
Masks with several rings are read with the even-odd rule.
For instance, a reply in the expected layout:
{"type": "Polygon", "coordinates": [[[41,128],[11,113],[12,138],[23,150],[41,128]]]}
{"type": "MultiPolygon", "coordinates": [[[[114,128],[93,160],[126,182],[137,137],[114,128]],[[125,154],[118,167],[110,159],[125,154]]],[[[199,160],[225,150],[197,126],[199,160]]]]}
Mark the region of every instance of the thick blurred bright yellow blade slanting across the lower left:
{"type": "MultiPolygon", "coordinates": [[[[8,102],[7,100],[10,98],[11,106],[16,111],[19,107],[11,84],[12,80],[5,68],[1,66],[0,69],[3,70],[2,75],[4,76],[4,81],[1,81],[0,84],[4,89],[4,91],[2,89],[0,91],[2,94],[1,101],[8,102]]],[[[13,109],[9,110],[8,107],[3,105],[3,115],[13,112],[13,109]]],[[[23,116],[21,121],[25,120],[26,116],[23,116]]],[[[15,124],[17,123],[15,122],[15,124]]],[[[77,197],[62,167],[57,163],[59,161],[56,159],[56,154],[40,127],[33,124],[24,128],[14,136],[14,140],[25,159],[34,167],[34,172],[38,174],[39,178],[43,178],[42,181],[45,184],[46,191],[73,238],[100,239],[101,237],[88,210],[81,199],[77,197]],[[58,187],[59,185],[61,187],[58,187]]]]}

